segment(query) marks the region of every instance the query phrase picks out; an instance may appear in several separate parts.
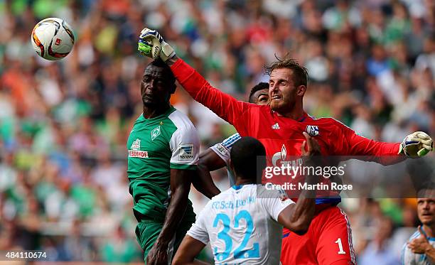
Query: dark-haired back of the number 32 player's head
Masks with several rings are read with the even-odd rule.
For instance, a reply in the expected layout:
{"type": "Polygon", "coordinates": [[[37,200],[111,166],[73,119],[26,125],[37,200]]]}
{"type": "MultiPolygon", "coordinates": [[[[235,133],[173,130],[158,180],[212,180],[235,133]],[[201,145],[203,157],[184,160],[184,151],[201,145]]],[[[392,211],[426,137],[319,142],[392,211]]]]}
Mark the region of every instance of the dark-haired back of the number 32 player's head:
{"type": "Polygon", "coordinates": [[[249,179],[256,183],[257,173],[261,174],[266,166],[265,156],[266,149],[255,138],[247,136],[235,142],[231,148],[230,157],[236,177],[249,179]]]}

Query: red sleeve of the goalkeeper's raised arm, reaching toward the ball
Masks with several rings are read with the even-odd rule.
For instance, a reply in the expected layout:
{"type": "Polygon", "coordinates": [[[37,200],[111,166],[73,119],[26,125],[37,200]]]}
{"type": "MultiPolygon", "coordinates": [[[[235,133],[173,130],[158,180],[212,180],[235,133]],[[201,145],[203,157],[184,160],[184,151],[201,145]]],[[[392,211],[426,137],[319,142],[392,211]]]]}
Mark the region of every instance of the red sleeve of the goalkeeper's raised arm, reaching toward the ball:
{"type": "Polygon", "coordinates": [[[235,126],[235,129],[242,135],[246,134],[247,125],[242,117],[247,114],[249,105],[256,105],[238,101],[229,94],[212,87],[204,77],[181,59],[178,59],[171,66],[171,70],[178,82],[193,99],[235,126]]]}

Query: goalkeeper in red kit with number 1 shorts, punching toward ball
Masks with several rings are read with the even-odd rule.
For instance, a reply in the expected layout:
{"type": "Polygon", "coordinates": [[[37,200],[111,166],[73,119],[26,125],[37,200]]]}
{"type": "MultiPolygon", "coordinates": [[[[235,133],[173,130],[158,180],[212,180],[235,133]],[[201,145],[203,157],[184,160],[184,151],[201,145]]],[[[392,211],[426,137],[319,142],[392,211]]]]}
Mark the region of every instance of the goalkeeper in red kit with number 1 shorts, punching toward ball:
{"type": "MultiPolygon", "coordinates": [[[[424,156],[433,149],[432,139],[424,132],[410,134],[402,144],[383,143],[358,136],[335,119],[313,119],[303,108],[308,72],[289,57],[267,67],[270,104],[258,106],[237,101],[212,87],[179,59],[156,31],[144,28],[139,37],[139,51],[151,58],[160,57],[196,101],[230,122],[241,136],[259,139],[269,157],[300,156],[301,145],[305,144],[304,131],[317,139],[323,156],[372,156],[379,163],[391,164],[405,156],[424,156]]],[[[340,198],[318,198],[316,216],[306,234],[284,231],[282,264],[355,264],[350,224],[343,210],[336,206],[339,202],[340,198]]]]}

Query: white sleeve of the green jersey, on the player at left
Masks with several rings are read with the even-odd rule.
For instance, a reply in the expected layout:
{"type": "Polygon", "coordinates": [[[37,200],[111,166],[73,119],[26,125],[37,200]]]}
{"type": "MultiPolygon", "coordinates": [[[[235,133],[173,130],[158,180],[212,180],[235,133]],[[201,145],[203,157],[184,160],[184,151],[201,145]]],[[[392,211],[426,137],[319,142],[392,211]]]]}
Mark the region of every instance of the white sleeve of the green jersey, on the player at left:
{"type": "Polygon", "coordinates": [[[170,168],[195,170],[199,160],[200,142],[195,126],[188,120],[176,121],[177,129],[169,141],[170,168]]]}

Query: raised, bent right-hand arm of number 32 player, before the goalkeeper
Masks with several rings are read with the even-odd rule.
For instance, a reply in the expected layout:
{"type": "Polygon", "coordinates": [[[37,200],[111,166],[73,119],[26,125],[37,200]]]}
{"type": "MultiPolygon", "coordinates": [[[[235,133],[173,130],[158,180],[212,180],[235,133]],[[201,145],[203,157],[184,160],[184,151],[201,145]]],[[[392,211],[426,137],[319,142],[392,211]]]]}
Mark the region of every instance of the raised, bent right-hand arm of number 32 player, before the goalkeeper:
{"type": "MultiPolygon", "coordinates": [[[[304,162],[304,166],[316,166],[311,159],[313,156],[320,155],[320,146],[316,139],[304,132],[306,141],[301,146],[302,156],[308,158],[304,162]],[[306,148],[308,150],[306,150],[306,148]]],[[[318,178],[316,176],[307,175],[305,177],[306,183],[316,184],[318,178]]],[[[308,231],[308,227],[313,220],[314,211],[316,206],[316,192],[315,190],[304,190],[298,198],[296,204],[289,205],[279,213],[278,222],[284,227],[290,229],[296,234],[302,235],[308,231]]]]}

